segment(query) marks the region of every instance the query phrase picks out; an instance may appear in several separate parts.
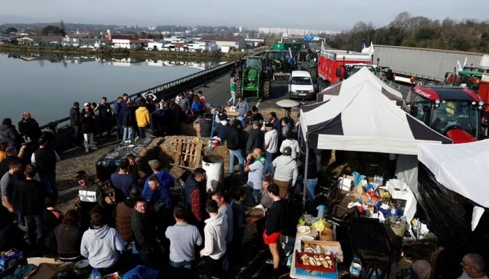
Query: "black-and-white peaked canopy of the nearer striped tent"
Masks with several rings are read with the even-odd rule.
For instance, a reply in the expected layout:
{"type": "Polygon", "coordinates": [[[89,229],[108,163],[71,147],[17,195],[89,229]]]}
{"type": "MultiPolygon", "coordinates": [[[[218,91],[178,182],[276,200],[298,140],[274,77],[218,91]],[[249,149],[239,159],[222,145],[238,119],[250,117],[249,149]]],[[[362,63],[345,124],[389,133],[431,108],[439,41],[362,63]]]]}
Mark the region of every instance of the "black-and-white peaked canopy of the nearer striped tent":
{"type": "MultiPolygon", "coordinates": [[[[363,68],[351,78],[365,71],[370,73],[363,68]]],[[[301,107],[300,127],[309,149],[416,155],[418,144],[452,142],[393,104],[372,80],[301,107]]]]}

